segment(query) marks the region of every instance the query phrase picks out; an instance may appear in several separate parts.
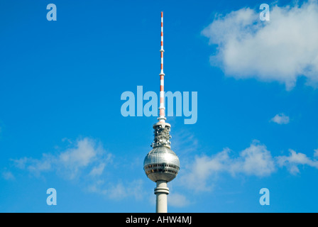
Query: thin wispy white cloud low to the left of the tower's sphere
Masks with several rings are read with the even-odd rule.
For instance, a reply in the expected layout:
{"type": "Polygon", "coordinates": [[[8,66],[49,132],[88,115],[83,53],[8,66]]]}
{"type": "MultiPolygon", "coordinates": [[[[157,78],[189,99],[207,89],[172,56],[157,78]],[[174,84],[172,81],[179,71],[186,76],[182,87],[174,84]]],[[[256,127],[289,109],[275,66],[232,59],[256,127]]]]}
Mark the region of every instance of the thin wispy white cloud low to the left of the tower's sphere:
{"type": "MultiPolygon", "coordinates": [[[[62,141],[65,140],[65,138],[62,139],[62,141]]],[[[67,141],[72,147],[56,155],[44,153],[40,159],[22,157],[11,161],[18,169],[27,170],[35,176],[43,175],[45,172],[56,172],[57,175],[66,179],[81,179],[80,184],[84,190],[100,194],[107,199],[143,199],[145,192],[141,179],[133,179],[125,183],[120,180],[113,182],[105,179],[104,172],[113,162],[113,155],[107,153],[97,140],[82,138],[76,143],[68,139],[67,141]]],[[[2,177],[10,179],[13,175],[11,172],[3,172],[2,177]]]]}

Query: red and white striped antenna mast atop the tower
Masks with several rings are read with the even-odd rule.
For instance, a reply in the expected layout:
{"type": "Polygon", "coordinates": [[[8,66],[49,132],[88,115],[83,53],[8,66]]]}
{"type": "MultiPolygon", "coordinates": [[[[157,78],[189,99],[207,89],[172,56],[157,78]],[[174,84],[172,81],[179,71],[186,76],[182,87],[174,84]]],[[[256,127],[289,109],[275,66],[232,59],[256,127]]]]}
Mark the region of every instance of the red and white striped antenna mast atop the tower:
{"type": "Polygon", "coordinates": [[[161,71],[160,71],[160,106],[159,106],[159,122],[165,122],[165,91],[164,91],[164,77],[165,74],[163,73],[163,12],[161,12],[161,71]]]}

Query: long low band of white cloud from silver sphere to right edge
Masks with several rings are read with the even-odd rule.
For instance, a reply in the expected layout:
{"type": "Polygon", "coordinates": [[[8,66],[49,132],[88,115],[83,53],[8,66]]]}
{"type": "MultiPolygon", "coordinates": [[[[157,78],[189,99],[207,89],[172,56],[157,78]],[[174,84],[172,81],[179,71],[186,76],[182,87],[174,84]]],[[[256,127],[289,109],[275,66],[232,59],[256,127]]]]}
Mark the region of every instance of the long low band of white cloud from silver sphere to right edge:
{"type": "Polygon", "coordinates": [[[254,140],[251,145],[233,157],[233,152],[226,148],[212,156],[201,155],[194,158],[180,175],[180,184],[195,192],[209,192],[221,173],[267,177],[278,170],[278,167],[287,167],[287,170],[296,175],[300,172],[299,166],[309,166],[318,169],[318,149],[314,150],[314,157],[309,158],[303,153],[289,150],[290,155],[273,157],[265,145],[254,140]]]}

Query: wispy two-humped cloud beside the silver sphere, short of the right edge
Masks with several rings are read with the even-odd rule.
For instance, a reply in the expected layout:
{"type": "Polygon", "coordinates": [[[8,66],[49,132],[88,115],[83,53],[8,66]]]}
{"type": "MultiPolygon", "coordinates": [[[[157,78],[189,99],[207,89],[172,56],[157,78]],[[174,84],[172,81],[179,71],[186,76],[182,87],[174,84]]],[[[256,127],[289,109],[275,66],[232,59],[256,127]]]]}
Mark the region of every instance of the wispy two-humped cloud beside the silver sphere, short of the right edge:
{"type": "Polygon", "coordinates": [[[231,150],[226,148],[212,157],[195,157],[194,162],[185,167],[185,175],[180,177],[180,182],[195,191],[211,191],[212,179],[221,172],[228,172],[232,176],[243,174],[258,177],[275,172],[275,162],[270,151],[257,140],[241,151],[238,157],[230,157],[230,153],[231,150]]]}

